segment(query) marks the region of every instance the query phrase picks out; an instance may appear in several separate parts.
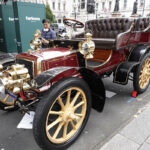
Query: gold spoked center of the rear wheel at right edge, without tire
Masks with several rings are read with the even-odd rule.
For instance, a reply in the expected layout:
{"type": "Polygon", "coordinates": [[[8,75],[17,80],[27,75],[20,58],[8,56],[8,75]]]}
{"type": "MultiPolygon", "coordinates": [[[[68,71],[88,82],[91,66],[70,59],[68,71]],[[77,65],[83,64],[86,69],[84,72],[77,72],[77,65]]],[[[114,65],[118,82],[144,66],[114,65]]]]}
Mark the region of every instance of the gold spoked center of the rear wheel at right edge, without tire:
{"type": "Polygon", "coordinates": [[[144,89],[148,84],[150,80],[150,58],[146,59],[144,62],[140,76],[139,76],[139,85],[141,89],[144,89]]]}

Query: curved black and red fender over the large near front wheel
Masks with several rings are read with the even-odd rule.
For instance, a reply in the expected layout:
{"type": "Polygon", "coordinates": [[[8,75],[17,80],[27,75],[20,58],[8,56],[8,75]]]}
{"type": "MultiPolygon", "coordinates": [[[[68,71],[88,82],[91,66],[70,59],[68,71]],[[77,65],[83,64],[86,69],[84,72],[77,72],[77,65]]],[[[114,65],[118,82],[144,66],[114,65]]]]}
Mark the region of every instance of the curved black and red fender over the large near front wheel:
{"type": "Polygon", "coordinates": [[[91,90],[92,107],[99,112],[103,110],[106,99],[105,87],[101,78],[92,70],[78,67],[57,67],[42,72],[34,80],[36,81],[38,88],[41,88],[49,82],[54,84],[65,77],[82,78],[91,90]]]}

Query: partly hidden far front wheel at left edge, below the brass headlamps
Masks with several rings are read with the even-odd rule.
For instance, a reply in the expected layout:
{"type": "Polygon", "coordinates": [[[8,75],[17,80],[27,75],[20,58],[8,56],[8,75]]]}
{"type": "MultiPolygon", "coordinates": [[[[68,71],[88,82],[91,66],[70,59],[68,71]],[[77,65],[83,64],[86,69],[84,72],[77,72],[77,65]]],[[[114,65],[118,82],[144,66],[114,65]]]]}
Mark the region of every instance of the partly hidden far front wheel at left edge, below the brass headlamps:
{"type": "Polygon", "coordinates": [[[0,109],[6,110],[6,111],[16,110],[17,107],[16,106],[13,107],[14,102],[15,102],[15,100],[9,94],[7,94],[7,95],[1,94],[0,109]],[[7,107],[9,107],[9,109],[6,109],[7,107]]]}

